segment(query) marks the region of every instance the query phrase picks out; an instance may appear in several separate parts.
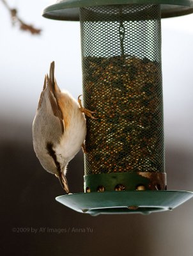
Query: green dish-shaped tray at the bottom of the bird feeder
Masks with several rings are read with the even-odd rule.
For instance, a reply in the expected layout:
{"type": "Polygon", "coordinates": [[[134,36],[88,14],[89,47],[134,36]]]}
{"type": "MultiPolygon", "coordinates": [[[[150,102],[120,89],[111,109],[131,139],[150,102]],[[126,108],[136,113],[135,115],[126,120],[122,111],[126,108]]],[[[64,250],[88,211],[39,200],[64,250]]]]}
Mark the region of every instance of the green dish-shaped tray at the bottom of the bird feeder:
{"type": "Polygon", "coordinates": [[[63,195],[56,197],[56,200],[74,211],[96,216],[171,211],[192,196],[189,191],[173,190],[108,191],[63,195]]]}

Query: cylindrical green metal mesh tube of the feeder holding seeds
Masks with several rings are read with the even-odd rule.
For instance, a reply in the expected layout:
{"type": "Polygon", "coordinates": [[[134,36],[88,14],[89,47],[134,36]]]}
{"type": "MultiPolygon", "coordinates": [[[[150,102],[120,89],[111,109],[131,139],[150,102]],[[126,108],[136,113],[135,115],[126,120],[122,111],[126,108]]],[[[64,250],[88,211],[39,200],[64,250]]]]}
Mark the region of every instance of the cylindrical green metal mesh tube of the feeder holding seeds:
{"type": "Polygon", "coordinates": [[[165,172],[160,5],[81,8],[85,175],[165,172]]]}

